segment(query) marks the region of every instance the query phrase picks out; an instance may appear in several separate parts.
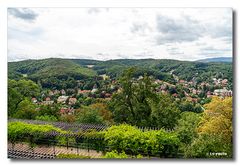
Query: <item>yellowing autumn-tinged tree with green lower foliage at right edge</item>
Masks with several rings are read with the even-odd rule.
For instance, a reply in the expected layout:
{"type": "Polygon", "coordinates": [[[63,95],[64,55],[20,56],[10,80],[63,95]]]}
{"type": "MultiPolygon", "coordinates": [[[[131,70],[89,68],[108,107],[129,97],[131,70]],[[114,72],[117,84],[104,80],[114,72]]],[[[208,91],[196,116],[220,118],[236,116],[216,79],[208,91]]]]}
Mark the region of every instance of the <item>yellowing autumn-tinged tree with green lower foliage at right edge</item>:
{"type": "Polygon", "coordinates": [[[232,157],[232,98],[213,98],[198,127],[198,137],[186,151],[187,157],[232,157]]]}

